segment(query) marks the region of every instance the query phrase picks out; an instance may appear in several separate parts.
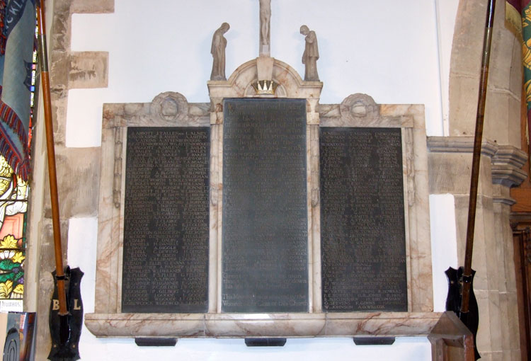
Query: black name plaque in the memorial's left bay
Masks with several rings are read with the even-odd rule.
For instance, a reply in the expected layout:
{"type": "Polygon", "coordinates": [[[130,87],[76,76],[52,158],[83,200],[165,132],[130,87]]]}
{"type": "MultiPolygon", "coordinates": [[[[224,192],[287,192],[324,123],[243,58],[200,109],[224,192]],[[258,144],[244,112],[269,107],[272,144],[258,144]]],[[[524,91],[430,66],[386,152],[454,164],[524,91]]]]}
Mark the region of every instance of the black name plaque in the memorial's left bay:
{"type": "Polygon", "coordinates": [[[206,312],[208,127],[129,127],[122,312],[206,312]]]}

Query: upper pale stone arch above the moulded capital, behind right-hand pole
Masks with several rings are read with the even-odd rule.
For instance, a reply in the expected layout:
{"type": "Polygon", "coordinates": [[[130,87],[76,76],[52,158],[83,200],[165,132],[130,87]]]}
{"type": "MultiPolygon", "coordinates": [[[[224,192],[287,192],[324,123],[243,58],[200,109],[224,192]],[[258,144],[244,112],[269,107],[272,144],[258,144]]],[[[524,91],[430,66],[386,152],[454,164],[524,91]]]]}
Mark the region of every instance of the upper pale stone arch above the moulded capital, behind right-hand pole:
{"type": "MultiPolygon", "coordinates": [[[[496,6],[484,138],[520,148],[521,45],[496,6]]],[[[450,59],[450,136],[474,136],[486,1],[460,0],[450,59]]]]}

